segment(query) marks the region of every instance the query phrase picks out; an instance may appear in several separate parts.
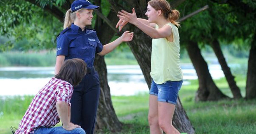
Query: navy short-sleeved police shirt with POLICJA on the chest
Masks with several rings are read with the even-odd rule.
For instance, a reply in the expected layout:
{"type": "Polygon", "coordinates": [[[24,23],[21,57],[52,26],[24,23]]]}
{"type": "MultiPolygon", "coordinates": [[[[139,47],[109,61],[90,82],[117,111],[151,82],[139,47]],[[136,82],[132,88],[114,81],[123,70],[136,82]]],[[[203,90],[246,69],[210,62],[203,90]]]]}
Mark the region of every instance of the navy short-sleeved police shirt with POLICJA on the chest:
{"type": "Polygon", "coordinates": [[[83,59],[88,67],[93,66],[95,53],[103,50],[103,45],[99,41],[96,31],[92,29],[82,29],[74,24],[70,28],[64,29],[57,37],[57,56],[65,55],[66,59],[83,59]]]}

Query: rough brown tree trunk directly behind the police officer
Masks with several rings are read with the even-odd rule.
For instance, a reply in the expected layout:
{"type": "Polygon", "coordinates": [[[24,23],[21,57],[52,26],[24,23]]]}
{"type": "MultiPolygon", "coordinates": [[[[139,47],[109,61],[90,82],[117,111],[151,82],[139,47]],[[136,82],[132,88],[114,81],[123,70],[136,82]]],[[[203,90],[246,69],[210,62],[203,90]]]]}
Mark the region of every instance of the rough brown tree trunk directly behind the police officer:
{"type": "MultiPolygon", "coordinates": [[[[110,12],[108,18],[113,22],[117,22],[115,12],[110,12]]],[[[115,32],[106,27],[106,23],[101,25],[100,19],[97,18],[97,35],[101,43],[107,44],[114,36],[115,32]],[[108,32],[106,32],[108,31],[108,32]]],[[[99,80],[101,85],[101,95],[99,97],[99,105],[97,109],[96,129],[108,129],[111,132],[118,132],[122,129],[122,124],[118,120],[115,110],[112,105],[110,88],[107,79],[107,67],[104,60],[104,56],[95,55],[94,66],[99,74],[99,80]]]]}

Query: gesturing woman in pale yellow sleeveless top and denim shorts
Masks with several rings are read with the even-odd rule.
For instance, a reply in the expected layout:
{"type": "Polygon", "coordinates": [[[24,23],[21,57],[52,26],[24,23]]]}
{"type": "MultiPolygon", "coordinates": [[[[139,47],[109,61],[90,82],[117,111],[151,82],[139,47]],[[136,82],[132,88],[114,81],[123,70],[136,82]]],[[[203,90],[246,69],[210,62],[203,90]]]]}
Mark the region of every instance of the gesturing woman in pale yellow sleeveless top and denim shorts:
{"type": "Polygon", "coordinates": [[[178,91],[183,73],[179,61],[179,11],[171,10],[166,0],[150,0],[145,15],[148,20],[137,18],[124,10],[118,12],[116,28],[127,23],[135,25],[152,38],[151,72],[148,122],[151,134],[179,134],[172,125],[178,91]]]}

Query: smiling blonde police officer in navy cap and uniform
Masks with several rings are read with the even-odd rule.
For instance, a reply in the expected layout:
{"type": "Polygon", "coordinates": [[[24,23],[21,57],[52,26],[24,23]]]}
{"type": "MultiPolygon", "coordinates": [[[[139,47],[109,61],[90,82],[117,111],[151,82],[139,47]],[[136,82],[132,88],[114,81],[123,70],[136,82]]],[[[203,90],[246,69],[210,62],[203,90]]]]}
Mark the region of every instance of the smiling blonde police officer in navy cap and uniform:
{"type": "Polygon", "coordinates": [[[66,12],[64,30],[57,37],[55,75],[66,59],[80,58],[88,66],[87,75],[74,87],[69,110],[70,121],[80,125],[86,134],[94,132],[100,93],[99,77],[93,66],[95,53],[105,55],[120,43],[133,39],[133,32],[126,31],[115,41],[103,46],[95,30],[86,28],[91,25],[93,9],[98,8],[99,6],[92,5],[88,0],[75,0],[66,12]]]}

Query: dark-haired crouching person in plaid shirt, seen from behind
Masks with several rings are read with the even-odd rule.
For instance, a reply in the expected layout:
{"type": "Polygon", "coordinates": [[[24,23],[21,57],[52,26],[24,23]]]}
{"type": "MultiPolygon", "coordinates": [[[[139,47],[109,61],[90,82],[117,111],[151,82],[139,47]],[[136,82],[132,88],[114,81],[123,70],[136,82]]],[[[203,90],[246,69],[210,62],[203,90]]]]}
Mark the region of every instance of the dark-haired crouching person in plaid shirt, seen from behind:
{"type": "Polygon", "coordinates": [[[85,134],[70,122],[73,86],[86,75],[86,63],[78,58],[65,60],[52,78],[33,98],[15,134],[85,134]],[[62,127],[52,127],[62,122],[62,127]]]}

